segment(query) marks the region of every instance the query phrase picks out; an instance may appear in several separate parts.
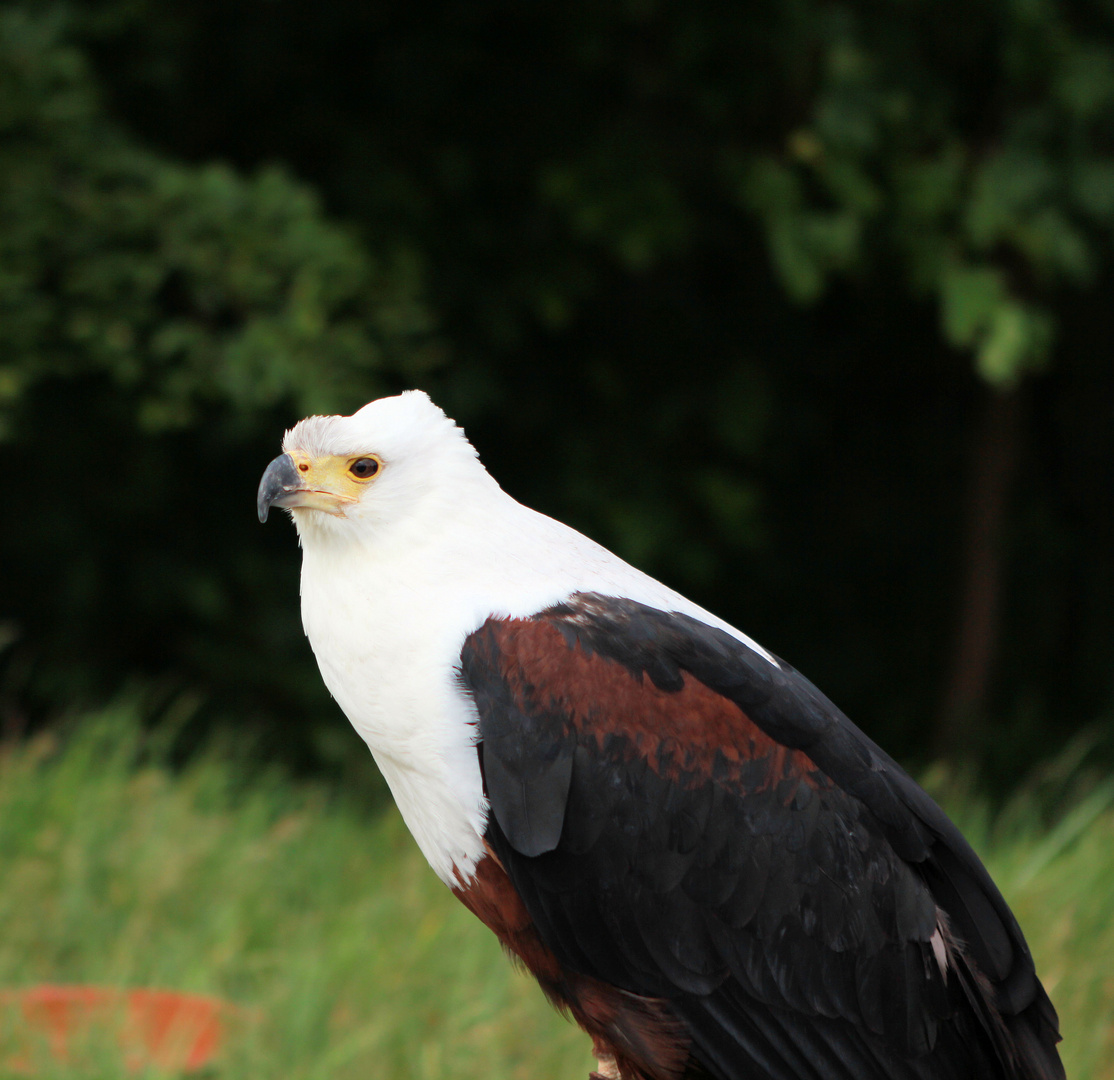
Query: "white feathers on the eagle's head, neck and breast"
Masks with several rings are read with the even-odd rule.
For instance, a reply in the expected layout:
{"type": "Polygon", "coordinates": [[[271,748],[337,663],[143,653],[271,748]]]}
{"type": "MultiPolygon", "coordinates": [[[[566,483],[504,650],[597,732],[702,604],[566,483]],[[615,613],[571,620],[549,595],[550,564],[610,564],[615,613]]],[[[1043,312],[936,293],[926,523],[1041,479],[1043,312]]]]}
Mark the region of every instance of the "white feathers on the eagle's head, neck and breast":
{"type": "Polygon", "coordinates": [[[693,615],[760,645],[575,529],[517,503],[426,393],[349,417],[310,417],[283,439],[311,457],[375,455],[382,471],[343,513],[294,507],[302,622],[332,695],[368,743],[437,875],[470,878],[487,806],[476,714],[456,679],[489,615],[530,615],[602,592],[693,615]]]}

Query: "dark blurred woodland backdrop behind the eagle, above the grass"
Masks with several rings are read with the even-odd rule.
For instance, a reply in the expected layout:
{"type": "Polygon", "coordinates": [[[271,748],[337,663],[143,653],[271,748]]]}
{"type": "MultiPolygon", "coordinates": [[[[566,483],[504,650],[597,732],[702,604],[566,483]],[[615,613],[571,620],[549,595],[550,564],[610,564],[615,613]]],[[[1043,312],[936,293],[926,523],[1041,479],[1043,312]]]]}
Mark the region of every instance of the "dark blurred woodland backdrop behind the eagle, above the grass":
{"type": "Polygon", "coordinates": [[[421,387],[1037,844],[1114,760],[1112,240],[1106,0],[3,3],[6,752],[381,813],[254,493],[421,387]]]}

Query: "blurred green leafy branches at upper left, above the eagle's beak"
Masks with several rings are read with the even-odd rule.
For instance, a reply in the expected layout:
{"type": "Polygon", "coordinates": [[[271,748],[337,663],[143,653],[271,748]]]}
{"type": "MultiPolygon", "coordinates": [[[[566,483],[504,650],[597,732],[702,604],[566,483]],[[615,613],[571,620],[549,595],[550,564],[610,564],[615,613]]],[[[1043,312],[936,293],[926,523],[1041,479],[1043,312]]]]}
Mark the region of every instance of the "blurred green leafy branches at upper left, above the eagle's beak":
{"type": "MultiPolygon", "coordinates": [[[[0,13],[0,393],[105,374],[147,431],[203,403],[307,411],[429,318],[277,168],[244,176],[140,148],[101,108],[58,13],[0,13]]],[[[360,383],[360,380],[363,380],[360,383]]]]}

